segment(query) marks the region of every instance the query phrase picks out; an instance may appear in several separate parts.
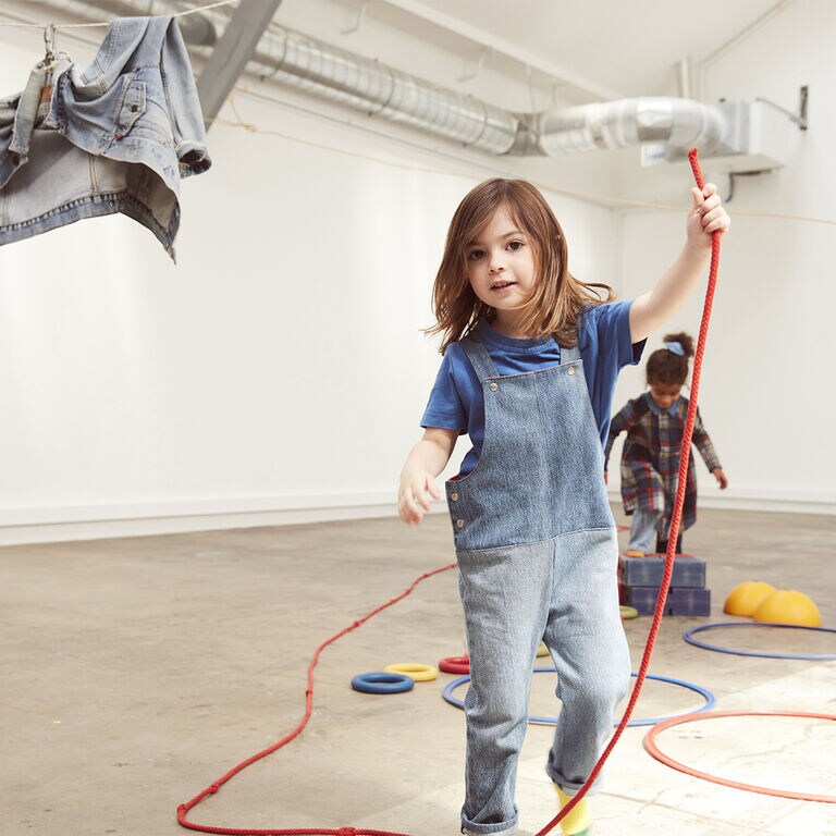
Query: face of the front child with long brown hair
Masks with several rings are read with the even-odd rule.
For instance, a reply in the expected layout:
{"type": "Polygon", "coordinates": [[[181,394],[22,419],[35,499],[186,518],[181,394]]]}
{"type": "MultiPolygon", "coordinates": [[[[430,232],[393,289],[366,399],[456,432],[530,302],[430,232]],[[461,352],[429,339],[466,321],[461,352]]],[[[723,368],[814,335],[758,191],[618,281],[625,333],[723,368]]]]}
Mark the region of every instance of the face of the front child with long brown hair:
{"type": "Polygon", "coordinates": [[[496,322],[513,322],[534,287],[534,254],[529,237],[500,207],[465,253],[474,293],[496,310],[496,322]]]}

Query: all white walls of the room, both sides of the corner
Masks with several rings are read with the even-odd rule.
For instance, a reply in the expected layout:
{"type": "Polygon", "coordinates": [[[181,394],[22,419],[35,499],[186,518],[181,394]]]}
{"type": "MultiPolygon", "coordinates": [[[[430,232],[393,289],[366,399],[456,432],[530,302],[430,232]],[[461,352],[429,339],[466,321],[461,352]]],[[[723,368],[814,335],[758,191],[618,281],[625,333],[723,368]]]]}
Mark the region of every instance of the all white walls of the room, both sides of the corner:
{"type": "MultiPolygon", "coordinates": [[[[703,469],[704,504],[836,508],[834,228],[743,214],[836,217],[834,15],[828,0],[799,0],[704,79],[708,99],[792,106],[799,85],[811,90],[787,168],[738,179],[729,205],[700,399],[732,488],[721,497],[703,469]]],[[[312,20],[299,27],[317,34],[312,20]]],[[[60,46],[78,63],[94,51],[60,46]]],[[[3,91],[23,87],[40,49],[40,33],[0,27],[3,91]]],[[[477,82],[488,98],[491,79],[477,82]]],[[[500,161],[259,89],[290,107],[238,94],[259,132],[212,128],[213,168],[183,183],[176,267],[121,216],[0,248],[0,542],[393,513],[438,367],[420,329],[462,196],[493,173],[628,196],[662,176],[636,169],[636,149],[500,161]]],[[[545,190],[573,271],[619,296],[649,288],[683,239],[683,213],[545,190]]],[[[671,327],[696,332],[699,311],[693,299],[671,327]]],[[[642,385],[642,370],[625,372],[615,407],[642,385]]]]}

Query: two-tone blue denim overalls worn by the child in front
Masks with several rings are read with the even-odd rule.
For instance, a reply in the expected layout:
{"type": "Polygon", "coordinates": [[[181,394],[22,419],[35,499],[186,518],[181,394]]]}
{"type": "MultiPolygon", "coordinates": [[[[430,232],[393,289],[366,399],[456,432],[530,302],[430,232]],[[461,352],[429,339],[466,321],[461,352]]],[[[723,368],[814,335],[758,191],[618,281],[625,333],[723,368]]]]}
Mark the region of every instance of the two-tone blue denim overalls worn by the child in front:
{"type": "Polygon", "coordinates": [[[586,782],[629,684],[618,610],[615,525],[578,348],[561,365],[501,377],[477,335],[462,341],[484,394],[476,468],[446,483],[470,688],[462,825],[516,826],[528,697],[542,639],[563,702],[546,763],[568,794],[586,782]]]}

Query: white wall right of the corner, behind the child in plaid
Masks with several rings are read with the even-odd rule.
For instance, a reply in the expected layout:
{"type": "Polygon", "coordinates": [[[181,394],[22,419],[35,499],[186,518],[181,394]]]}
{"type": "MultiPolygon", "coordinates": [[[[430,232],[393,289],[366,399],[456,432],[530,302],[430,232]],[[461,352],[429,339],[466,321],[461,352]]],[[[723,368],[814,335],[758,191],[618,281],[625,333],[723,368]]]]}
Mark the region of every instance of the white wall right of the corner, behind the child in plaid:
{"type": "MultiPolygon", "coordinates": [[[[810,126],[802,132],[779,118],[787,138],[786,167],[736,177],[727,205],[733,228],[721,254],[700,405],[730,487],[721,495],[698,462],[704,505],[836,512],[831,420],[836,411],[834,33],[836,4],[798,0],[705,73],[706,100],[763,97],[789,110],[797,107],[799,87],[809,85],[810,126]]],[[[710,171],[711,162],[704,167],[710,171]]],[[[676,241],[681,229],[681,219],[669,213],[624,214],[627,295],[646,287],[671,256],[653,242],[676,241]]],[[[685,329],[696,336],[701,304],[701,297],[693,298],[669,330],[685,329]]],[[[648,352],[659,345],[659,339],[652,341],[648,352]]],[[[623,374],[615,408],[642,385],[643,368],[623,374]]]]}

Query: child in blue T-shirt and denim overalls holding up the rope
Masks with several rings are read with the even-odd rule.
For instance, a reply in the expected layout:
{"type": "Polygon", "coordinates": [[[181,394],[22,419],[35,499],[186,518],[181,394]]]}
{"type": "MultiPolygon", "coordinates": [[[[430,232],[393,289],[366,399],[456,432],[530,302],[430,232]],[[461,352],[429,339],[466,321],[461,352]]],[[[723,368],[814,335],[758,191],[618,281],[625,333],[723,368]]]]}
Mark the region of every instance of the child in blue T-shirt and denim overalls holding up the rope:
{"type": "MultiPolygon", "coordinates": [[[[435,279],[444,360],[401,475],[398,513],[420,522],[459,433],[472,450],[446,483],[465,611],[470,688],[462,831],[512,834],[514,787],[538,644],[563,703],[546,772],[561,804],[587,780],[613,727],[630,663],[604,488],[618,370],[706,272],[729,220],[713,185],[692,189],[683,251],[655,287],[615,304],[579,282],[543,196],[491,180],[456,210],[435,279]]],[[[598,291],[598,292],[597,292],[598,291]]],[[[562,821],[590,826],[587,799],[562,821]]]]}

